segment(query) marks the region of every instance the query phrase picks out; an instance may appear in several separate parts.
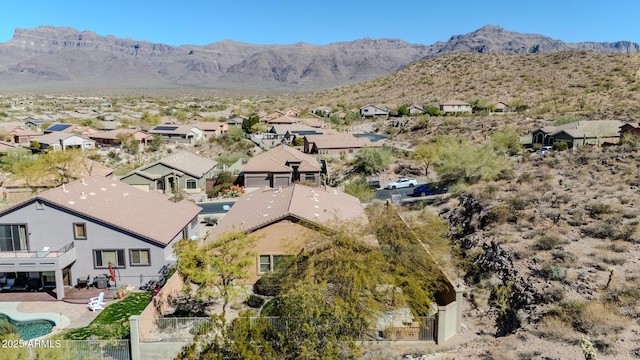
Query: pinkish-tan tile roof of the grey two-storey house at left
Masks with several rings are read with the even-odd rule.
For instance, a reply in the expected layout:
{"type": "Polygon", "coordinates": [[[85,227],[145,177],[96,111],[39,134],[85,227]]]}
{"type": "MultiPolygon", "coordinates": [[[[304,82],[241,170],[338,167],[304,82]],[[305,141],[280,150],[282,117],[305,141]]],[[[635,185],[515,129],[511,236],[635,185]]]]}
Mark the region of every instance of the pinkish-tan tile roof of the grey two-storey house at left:
{"type": "Polygon", "coordinates": [[[45,191],[36,198],[164,245],[200,212],[190,201],[172,202],[161,193],[101,176],[45,191]]]}

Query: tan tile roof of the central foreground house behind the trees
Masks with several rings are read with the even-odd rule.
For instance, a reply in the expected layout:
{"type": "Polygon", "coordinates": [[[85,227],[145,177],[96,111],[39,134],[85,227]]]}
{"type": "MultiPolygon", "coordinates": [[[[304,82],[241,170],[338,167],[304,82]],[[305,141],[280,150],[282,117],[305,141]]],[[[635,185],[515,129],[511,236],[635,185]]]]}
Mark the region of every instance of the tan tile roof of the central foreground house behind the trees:
{"type": "Polygon", "coordinates": [[[335,188],[295,184],[284,188],[265,188],[243,195],[213,228],[210,238],[234,228],[252,232],[287,217],[319,225],[327,225],[336,220],[367,222],[367,216],[357,198],[335,188]]]}

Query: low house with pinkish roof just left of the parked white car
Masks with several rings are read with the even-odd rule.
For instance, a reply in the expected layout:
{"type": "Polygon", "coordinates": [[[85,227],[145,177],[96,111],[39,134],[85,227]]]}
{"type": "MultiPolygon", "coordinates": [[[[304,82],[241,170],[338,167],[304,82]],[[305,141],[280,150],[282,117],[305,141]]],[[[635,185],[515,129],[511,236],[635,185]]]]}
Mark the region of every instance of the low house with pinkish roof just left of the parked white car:
{"type": "Polygon", "coordinates": [[[352,134],[305,135],[304,152],[307,154],[352,154],[365,146],[378,146],[367,138],[357,138],[352,134]]]}

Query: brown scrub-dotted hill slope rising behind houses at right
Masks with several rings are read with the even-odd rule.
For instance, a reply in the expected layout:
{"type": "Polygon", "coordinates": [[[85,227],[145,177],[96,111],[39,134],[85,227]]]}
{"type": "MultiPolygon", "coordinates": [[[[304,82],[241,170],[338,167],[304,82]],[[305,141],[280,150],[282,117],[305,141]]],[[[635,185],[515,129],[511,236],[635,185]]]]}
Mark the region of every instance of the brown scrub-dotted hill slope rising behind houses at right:
{"type": "Polygon", "coordinates": [[[486,100],[524,103],[530,116],[576,113],[631,118],[640,111],[638,90],[639,54],[453,54],[420,61],[368,83],[296,100],[353,107],[486,100]]]}

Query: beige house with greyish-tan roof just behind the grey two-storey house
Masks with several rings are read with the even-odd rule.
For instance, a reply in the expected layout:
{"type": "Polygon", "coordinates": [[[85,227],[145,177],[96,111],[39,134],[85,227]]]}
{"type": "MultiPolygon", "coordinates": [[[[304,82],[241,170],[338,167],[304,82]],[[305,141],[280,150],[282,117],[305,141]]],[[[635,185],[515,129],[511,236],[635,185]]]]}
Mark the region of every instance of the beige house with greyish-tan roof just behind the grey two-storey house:
{"type": "Polygon", "coordinates": [[[174,193],[177,190],[195,196],[206,190],[206,181],[213,178],[217,164],[214,160],[180,151],[143,165],[120,181],[145,191],[174,193]]]}

